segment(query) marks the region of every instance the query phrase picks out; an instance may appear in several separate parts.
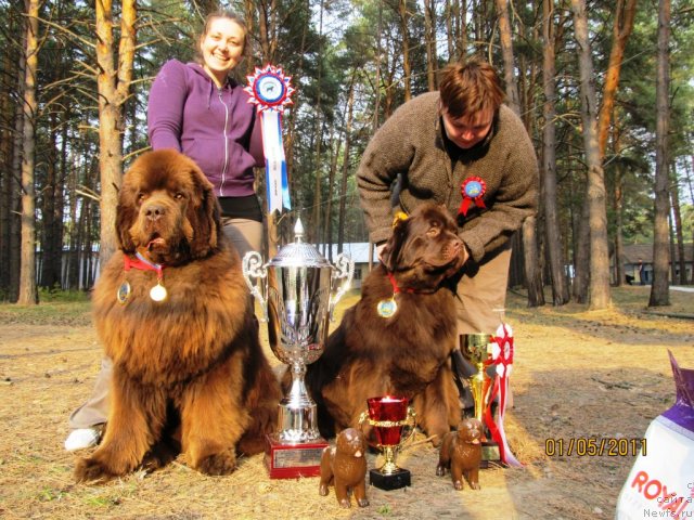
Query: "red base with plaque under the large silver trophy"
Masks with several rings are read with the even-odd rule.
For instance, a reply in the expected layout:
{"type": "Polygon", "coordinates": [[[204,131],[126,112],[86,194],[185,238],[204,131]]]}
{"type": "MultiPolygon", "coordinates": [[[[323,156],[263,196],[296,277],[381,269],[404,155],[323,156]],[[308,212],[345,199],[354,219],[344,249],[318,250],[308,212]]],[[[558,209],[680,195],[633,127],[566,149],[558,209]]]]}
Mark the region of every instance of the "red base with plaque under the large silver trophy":
{"type": "Polygon", "coordinates": [[[274,434],[266,435],[265,465],[271,479],[296,479],[321,474],[321,456],[327,442],[318,438],[311,442],[286,444],[274,434]]]}

